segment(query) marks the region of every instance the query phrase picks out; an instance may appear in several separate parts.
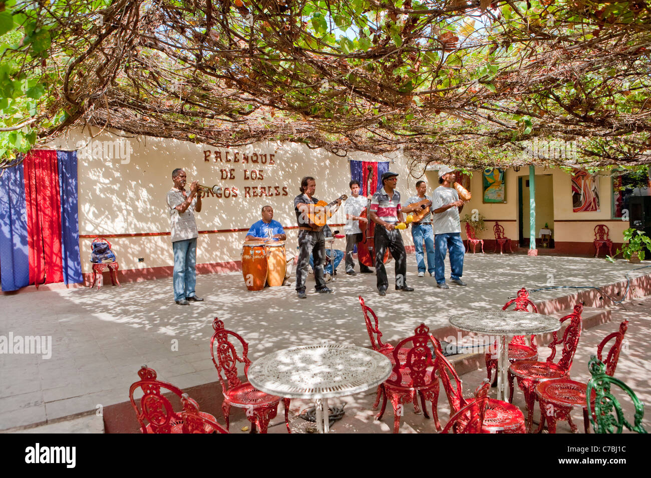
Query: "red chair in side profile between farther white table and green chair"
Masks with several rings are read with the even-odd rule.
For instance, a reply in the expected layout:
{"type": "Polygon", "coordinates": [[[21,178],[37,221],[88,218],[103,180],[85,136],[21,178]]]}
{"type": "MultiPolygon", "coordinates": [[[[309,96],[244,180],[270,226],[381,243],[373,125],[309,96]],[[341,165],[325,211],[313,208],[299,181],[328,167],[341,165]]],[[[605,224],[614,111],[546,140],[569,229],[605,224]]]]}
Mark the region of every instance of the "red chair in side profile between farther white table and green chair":
{"type": "Polygon", "coordinates": [[[533,422],[533,407],[536,399],[538,399],[536,397],[536,386],[540,382],[545,382],[553,378],[565,378],[570,374],[572,360],[574,360],[576,347],[581,337],[581,328],[583,328],[581,312],[583,312],[583,305],[576,304],[574,306],[574,312],[562,317],[561,326],[565,321],[569,320],[570,323],[565,328],[561,339],[558,338],[558,332],[553,333],[553,339],[548,345],[551,353],[547,357],[546,362],[519,360],[508,367],[508,371],[518,379],[518,386],[525,395],[525,403],[527,403],[527,429],[529,431],[531,431],[531,424],[533,422]],[[557,345],[561,345],[562,352],[558,364],[555,364],[553,360],[556,356],[557,345]]]}

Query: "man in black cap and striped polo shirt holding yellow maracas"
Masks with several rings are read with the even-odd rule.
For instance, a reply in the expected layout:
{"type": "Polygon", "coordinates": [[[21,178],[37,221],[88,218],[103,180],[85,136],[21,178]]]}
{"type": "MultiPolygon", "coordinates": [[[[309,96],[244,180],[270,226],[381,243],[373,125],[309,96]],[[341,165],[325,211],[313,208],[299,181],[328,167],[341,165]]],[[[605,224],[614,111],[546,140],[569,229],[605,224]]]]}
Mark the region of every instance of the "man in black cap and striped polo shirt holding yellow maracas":
{"type": "Polygon", "coordinates": [[[402,243],[402,235],[396,230],[396,224],[403,222],[400,193],[396,191],[398,174],[382,174],[382,189],[373,194],[370,201],[370,220],[375,222],[375,271],[378,276],[378,293],[387,295],[389,279],[384,268],[384,254],[387,247],[396,261],[396,291],[413,291],[406,284],[407,254],[402,243]]]}

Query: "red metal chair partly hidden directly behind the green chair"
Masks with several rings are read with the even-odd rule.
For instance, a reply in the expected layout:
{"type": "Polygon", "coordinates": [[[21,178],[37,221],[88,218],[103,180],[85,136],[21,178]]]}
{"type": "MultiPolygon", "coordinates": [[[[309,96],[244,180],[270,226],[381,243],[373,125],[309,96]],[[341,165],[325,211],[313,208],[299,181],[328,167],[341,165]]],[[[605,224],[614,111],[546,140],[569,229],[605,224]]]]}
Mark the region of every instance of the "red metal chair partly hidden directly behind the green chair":
{"type": "MultiPolygon", "coordinates": [[[[605,373],[613,377],[615,368],[619,360],[619,353],[622,349],[624,334],[628,328],[628,321],[619,325],[619,331],[607,335],[597,347],[597,358],[605,364],[605,373]],[[611,348],[603,360],[603,348],[609,341],[615,339],[611,348]]],[[[556,378],[555,380],[546,380],[536,386],[536,396],[540,403],[540,425],[537,432],[542,431],[545,422],[547,422],[547,431],[556,432],[556,422],[568,421],[572,432],[577,432],[577,427],[572,422],[572,408],[581,406],[583,408],[583,429],[586,433],[590,432],[590,420],[588,418],[588,408],[586,401],[587,384],[575,382],[569,378],[556,378]]],[[[592,402],[595,396],[592,395],[592,402]]],[[[593,407],[594,408],[594,407],[593,407]]]]}

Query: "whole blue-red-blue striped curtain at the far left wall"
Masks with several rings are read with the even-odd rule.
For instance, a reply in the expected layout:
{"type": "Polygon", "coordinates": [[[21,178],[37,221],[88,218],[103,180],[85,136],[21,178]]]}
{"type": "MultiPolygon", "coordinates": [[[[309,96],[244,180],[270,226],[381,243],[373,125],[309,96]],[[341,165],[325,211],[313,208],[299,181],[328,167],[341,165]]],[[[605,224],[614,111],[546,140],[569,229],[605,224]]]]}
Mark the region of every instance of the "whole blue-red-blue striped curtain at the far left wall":
{"type": "Polygon", "coordinates": [[[36,150],[0,177],[3,291],[83,282],[77,213],[77,153],[36,150]]]}

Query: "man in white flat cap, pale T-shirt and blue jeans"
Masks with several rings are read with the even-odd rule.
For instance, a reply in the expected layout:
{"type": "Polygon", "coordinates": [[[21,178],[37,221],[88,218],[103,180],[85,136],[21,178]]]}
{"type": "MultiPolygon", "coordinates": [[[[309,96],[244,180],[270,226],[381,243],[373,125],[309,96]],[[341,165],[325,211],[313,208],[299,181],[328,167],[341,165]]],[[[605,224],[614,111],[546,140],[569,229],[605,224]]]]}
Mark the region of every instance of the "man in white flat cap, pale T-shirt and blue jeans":
{"type": "Polygon", "coordinates": [[[464,241],[461,239],[461,222],[459,213],[464,209],[464,202],[459,199],[459,194],[454,185],[454,170],[448,166],[439,169],[440,186],[434,190],[432,196],[432,210],[434,210],[434,244],[436,252],[434,257],[434,276],[436,287],[449,289],[445,283],[445,254],[450,250],[450,283],[466,285],[461,279],[464,274],[464,241]]]}

